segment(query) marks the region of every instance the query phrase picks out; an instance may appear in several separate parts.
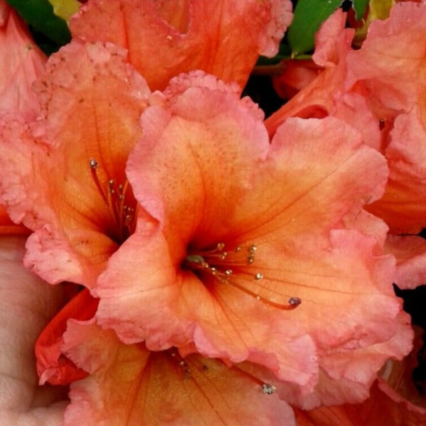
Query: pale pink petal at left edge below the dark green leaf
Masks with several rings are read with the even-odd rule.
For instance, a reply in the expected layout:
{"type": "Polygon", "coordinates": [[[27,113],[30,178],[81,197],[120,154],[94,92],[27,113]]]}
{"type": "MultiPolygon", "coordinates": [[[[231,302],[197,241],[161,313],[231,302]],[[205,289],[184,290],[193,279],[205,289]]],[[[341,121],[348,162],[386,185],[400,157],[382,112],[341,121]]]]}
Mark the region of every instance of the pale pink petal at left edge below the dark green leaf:
{"type": "Polygon", "coordinates": [[[0,22],[4,19],[0,25],[0,111],[20,111],[26,119],[33,119],[39,107],[31,84],[44,71],[47,58],[17,13],[4,8],[0,11],[0,22]]]}

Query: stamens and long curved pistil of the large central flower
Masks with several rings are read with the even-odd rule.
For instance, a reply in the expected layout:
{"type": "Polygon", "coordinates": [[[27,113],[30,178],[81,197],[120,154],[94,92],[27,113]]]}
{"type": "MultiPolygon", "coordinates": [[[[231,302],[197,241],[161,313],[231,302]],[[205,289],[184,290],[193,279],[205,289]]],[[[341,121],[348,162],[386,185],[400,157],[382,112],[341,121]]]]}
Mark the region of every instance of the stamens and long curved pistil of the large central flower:
{"type": "Polygon", "coordinates": [[[231,285],[259,302],[280,310],[293,310],[302,300],[291,296],[287,303],[270,300],[264,293],[265,288],[259,282],[267,279],[260,271],[253,270],[256,259],[256,244],[236,246],[229,251],[225,244],[219,243],[214,249],[200,250],[189,253],[184,265],[195,273],[209,273],[220,283],[231,285]]]}

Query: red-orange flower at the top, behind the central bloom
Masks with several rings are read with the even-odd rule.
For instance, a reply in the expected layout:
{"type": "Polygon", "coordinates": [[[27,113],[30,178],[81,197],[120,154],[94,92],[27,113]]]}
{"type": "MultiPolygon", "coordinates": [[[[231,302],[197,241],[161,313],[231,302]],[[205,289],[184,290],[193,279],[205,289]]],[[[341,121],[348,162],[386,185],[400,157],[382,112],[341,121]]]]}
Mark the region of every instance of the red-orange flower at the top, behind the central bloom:
{"type": "Polygon", "coordinates": [[[70,28],[75,37],[129,50],[152,90],[197,69],[242,89],[258,55],[278,52],[291,9],[289,0],[89,1],[70,28]]]}

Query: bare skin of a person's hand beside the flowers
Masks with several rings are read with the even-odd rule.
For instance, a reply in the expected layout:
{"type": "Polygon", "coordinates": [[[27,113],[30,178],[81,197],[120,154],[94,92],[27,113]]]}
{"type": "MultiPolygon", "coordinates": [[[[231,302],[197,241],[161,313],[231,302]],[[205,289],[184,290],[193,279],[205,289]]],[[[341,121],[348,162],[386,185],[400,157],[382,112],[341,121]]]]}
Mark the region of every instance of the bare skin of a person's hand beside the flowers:
{"type": "Polygon", "coordinates": [[[0,236],[0,424],[62,424],[67,388],[38,386],[33,345],[64,302],[21,264],[25,238],[0,236]]]}

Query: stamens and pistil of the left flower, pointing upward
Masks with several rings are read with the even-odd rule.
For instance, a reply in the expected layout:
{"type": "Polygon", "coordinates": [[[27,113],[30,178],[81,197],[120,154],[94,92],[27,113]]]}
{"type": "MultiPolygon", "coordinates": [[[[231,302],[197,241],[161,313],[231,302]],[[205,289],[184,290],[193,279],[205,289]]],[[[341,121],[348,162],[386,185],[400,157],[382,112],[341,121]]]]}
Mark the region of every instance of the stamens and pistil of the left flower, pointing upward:
{"type": "Polygon", "coordinates": [[[115,182],[107,176],[107,181],[101,182],[97,173],[97,160],[91,158],[89,166],[94,184],[115,225],[111,238],[121,244],[133,234],[136,227],[136,200],[129,181],[115,182]]]}

